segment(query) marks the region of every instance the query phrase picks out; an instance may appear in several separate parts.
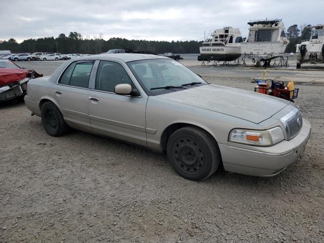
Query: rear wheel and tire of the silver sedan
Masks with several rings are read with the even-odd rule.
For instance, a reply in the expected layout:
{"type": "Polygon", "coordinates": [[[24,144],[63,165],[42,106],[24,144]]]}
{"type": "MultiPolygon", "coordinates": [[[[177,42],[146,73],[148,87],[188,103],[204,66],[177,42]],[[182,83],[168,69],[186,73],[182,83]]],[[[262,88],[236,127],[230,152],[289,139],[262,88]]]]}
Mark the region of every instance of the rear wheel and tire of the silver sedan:
{"type": "Polygon", "coordinates": [[[41,108],[42,124],[46,132],[53,137],[66,134],[69,131],[68,125],[57,106],[47,101],[41,108]]]}

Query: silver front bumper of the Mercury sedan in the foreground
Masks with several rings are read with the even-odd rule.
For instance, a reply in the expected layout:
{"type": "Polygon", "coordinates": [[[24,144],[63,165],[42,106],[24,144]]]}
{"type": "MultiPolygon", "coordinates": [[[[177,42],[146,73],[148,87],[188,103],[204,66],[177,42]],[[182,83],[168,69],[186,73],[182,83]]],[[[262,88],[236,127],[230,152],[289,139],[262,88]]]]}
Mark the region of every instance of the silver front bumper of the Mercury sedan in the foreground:
{"type": "Polygon", "coordinates": [[[295,138],[269,147],[258,147],[258,151],[254,150],[254,146],[242,148],[232,146],[232,143],[219,144],[224,169],[251,176],[275,176],[304,153],[310,133],[310,123],[303,119],[303,127],[295,138]]]}

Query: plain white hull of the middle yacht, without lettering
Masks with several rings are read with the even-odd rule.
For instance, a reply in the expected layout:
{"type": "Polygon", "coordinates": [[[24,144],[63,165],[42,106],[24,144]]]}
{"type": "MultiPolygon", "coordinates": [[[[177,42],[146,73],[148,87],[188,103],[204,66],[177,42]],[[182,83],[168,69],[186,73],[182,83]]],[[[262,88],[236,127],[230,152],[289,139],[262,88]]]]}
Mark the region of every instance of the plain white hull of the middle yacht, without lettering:
{"type": "Polygon", "coordinates": [[[259,56],[277,55],[285,53],[289,42],[242,42],[242,54],[259,56]]]}

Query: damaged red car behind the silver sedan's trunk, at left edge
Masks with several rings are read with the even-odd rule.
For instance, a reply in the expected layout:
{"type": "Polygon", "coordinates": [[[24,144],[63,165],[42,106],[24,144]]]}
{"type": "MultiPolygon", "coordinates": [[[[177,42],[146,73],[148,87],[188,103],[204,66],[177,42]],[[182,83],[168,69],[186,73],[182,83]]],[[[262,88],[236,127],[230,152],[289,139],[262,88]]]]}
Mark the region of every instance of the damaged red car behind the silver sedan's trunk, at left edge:
{"type": "Polygon", "coordinates": [[[29,79],[41,76],[43,74],[21,68],[6,58],[0,58],[0,102],[23,97],[29,79]]]}

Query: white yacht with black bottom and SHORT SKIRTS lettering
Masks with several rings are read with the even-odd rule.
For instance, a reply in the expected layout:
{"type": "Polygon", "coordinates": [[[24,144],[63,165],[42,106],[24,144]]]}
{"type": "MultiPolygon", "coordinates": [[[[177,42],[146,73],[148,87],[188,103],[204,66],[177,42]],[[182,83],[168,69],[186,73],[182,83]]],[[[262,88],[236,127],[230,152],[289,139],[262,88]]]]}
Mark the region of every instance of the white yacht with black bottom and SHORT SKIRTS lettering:
{"type": "Polygon", "coordinates": [[[199,47],[198,61],[234,61],[241,55],[242,41],[239,29],[215,29],[199,47]]]}

